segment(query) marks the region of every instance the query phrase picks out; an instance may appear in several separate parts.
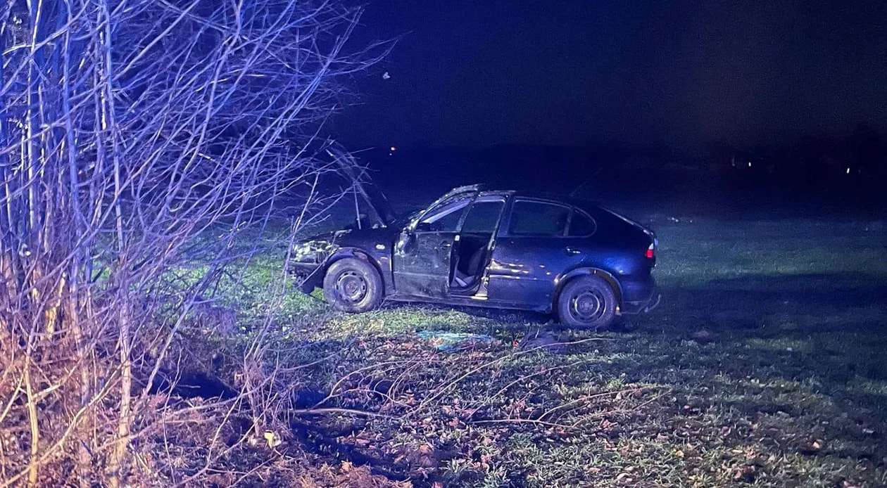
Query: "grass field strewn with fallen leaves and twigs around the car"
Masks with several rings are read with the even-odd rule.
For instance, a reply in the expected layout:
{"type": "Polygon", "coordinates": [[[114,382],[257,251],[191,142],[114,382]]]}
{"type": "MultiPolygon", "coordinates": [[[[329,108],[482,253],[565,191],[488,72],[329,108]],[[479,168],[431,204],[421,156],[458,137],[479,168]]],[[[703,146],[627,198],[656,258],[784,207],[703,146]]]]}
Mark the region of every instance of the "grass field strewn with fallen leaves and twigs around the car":
{"type": "MultiPolygon", "coordinates": [[[[646,221],[663,304],[632,332],[287,294],[274,340],[308,365],[301,407],[324,410],[292,416],[279,449],[412,486],[887,485],[883,223],[646,221]],[[538,328],[565,351],[514,347],[538,328]],[[420,331],[493,339],[442,351],[420,331]]],[[[243,321],[265,278],[235,300],[243,321]]]]}

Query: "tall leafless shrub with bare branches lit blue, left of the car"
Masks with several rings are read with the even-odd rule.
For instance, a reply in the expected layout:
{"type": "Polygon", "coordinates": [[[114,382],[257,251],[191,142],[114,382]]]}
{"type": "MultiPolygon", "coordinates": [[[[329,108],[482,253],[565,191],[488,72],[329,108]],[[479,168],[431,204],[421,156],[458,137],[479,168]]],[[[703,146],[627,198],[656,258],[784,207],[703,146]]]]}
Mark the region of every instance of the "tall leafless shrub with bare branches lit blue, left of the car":
{"type": "Polygon", "coordinates": [[[336,0],[0,5],[0,485],[194,482],[262,429],[261,333],[234,398],[149,393],[172,388],[179,332],[215,320],[201,304],[259,249],[244,232],[258,243],[281,209],[296,231],[341,197],[322,190],[324,122],[389,48],[349,49],[359,16],[336,0]],[[249,429],[214,427],[200,466],[139,447],[247,403],[249,429]]]}

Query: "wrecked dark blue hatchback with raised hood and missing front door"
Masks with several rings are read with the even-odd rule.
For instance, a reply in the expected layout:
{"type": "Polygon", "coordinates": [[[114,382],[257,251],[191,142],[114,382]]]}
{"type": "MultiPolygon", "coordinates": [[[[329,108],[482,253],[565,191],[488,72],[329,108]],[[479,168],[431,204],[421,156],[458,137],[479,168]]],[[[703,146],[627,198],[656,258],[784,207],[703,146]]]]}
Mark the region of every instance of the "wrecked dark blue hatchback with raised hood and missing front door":
{"type": "Polygon", "coordinates": [[[297,244],[302,290],[366,312],[383,299],[555,314],[598,329],[658,304],[658,241],[607,208],[483,185],[459,187],[402,218],[362,191],[374,223],[297,244]]]}

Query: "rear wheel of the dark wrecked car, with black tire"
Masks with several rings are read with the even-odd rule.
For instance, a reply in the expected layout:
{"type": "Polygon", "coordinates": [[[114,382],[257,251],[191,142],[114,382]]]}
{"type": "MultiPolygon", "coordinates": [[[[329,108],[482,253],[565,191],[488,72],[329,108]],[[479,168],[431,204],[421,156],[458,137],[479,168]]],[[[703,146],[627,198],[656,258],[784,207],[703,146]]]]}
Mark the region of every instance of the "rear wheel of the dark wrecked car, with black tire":
{"type": "Polygon", "coordinates": [[[597,275],[579,276],[564,285],[557,301],[561,323],[579,329],[605,329],[616,320],[616,291],[597,275]]]}

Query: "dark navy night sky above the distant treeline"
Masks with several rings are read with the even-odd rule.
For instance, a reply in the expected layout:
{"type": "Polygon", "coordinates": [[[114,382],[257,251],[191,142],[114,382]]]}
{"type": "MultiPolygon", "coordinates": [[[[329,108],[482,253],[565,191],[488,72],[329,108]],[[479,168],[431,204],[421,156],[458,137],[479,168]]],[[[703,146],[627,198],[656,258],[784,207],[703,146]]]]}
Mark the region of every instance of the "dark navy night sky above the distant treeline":
{"type": "Polygon", "coordinates": [[[883,1],[374,0],[363,23],[404,36],[336,121],[359,145],[702,151],[887,120],[883,1]]]}

